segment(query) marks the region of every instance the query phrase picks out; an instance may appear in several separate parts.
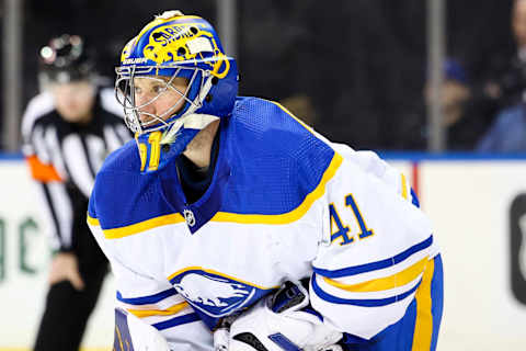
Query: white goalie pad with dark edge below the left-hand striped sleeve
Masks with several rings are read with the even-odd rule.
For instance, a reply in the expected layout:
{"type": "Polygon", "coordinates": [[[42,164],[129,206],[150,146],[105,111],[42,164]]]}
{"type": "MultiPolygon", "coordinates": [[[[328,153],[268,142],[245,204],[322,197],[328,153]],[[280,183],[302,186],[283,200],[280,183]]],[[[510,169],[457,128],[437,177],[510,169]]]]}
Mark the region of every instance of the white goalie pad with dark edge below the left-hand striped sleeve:
{"type": "Polygon", "coordinates": [[[167,340],[152,326],[122,308],[115,308],[115,351],[170,351],[167,340]]]}

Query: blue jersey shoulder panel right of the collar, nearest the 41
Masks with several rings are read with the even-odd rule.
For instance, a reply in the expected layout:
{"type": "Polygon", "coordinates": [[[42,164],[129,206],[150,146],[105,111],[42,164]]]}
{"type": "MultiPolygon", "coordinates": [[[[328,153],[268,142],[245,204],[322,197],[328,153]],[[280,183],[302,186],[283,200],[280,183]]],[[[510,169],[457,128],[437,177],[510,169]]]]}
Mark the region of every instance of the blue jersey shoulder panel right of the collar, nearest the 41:
{"type": "Polygon", "coordinates": [[[278,103],[238,98],[225,128],[230,179],[221,212],[277,215],[304,203],[334,150],[278,103]]]}

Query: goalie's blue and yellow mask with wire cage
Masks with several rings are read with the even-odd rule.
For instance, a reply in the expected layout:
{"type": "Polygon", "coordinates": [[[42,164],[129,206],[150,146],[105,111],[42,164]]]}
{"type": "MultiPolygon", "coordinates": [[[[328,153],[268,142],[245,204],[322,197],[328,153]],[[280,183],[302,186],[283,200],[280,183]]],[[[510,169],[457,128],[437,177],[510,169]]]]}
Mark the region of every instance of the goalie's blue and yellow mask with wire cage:
{"type": "Polygon", "coordinates": [[[156,16],[126,44],[116,73],[141,172],[162,168],[201,129],[230,115],[238,93],[236,60],[225,55],[217,33],[180,11],[156,16]]]}

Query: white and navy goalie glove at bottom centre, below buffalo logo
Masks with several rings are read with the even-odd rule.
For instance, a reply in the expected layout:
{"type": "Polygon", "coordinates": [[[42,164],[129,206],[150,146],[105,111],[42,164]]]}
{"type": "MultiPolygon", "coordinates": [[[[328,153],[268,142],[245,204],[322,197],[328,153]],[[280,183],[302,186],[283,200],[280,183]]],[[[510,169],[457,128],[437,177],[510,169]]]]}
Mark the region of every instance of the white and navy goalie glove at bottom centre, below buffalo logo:
{"type": "Polygon", "coordinates": [[[298,282],[286,282],[239,317],[225,319],[214,333],[216,351],[342,351],[338,330],[327,327],[309,307],[298,282]]]}

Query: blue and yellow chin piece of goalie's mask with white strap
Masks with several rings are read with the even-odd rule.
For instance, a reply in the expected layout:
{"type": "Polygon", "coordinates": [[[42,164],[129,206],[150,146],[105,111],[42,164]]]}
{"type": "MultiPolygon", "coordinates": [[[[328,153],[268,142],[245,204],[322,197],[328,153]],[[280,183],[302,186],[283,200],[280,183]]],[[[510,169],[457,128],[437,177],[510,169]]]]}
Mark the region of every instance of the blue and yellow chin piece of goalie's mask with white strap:
{"type": "Polygon", "coordinates": [[[192,139],[219,117],[209,114],[187,114],[176,120],[164,132],[156,131],[136,136],[140,156],[140,172],[162,169],[181,155],[192,139]]]}

